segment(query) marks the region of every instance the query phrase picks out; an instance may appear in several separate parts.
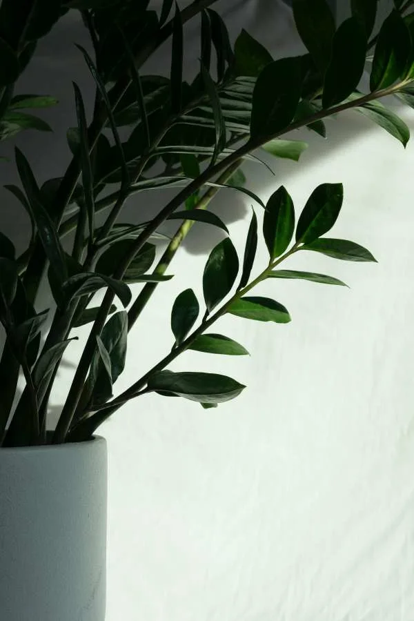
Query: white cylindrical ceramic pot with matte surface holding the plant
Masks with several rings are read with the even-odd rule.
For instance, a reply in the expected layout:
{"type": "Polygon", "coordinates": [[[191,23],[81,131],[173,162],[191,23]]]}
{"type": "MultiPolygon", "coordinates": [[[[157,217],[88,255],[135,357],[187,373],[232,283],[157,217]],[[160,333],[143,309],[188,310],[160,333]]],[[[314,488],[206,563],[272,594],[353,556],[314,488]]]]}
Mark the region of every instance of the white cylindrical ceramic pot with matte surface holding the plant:
{"type": "Polygon", "coordinates": [[[0,449],[1,621],[104,621],[106,440],[0,449]]]}

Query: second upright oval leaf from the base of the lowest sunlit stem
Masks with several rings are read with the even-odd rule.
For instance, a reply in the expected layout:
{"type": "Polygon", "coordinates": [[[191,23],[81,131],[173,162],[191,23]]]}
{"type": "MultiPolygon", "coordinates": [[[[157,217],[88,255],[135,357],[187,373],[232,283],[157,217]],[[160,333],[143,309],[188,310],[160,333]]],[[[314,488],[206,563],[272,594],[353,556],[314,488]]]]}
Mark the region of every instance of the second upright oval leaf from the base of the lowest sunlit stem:
{"type": "Polygon", "coordinates": [[[209,313],[230,292],[238,271],[239,259],[236,249],[226,237],[213,248],[204,268],[203,291],[209,313]]]}

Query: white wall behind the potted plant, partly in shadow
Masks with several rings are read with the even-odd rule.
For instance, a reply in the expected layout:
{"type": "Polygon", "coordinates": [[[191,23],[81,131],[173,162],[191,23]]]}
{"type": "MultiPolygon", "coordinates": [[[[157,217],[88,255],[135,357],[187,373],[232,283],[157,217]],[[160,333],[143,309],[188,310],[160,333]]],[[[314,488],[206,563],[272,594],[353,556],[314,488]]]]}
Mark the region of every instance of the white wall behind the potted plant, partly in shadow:
{"type": "MultiPolygon", "coordinates": [[[[251,0],[245,19],[230,15],[230,23],[235,32],[243,23],[276,54],[291,50],[288,12],[277,7],[251,0]]],[[[86,85],[76,50],[62,56],[80,40],[72,26],[51,35],[25,90],[48,86],[68,97],[71,66],[86,85]]],[[[58,146],[34,134],[19,141],[43,178],[67,160],[70,101],[54,114],[58,146]]],[[[414,130],[413,111],[401,115],[414,130]]],[[[291,324],[226,317],[217,331],[251,357],[186,353],[171,366],[228,373],[248,385],[241,397],[208,411],[144,397],[102,426],[110,451],[108,621],[414,621],[414,142],[404,152],[356,112],[329,121],[328,135],[303,134],[308,152],[299,164],[273,160],[275,177],[246,167],[250,188],[266,199],[283,183],[299,210],[317,184],[342,181],[332,235],[367,246],[378,264],[292,259],[286,267],[335,275],[351,289],[270,282],[257,293],[286,304],[291,324]]],[[[20,234],[23,219],[8,207],[8,226],[20,234]]],[[[222,193],[214,210],[241,249],[248,202],[222,193]]],[[[171,266],[175,278],[159,287],[131,335],[120,391],[168,351],[172,301],[187,286],[200,292],[218,239],[193,228],[171,266]]],[[[262,244],[257,269],[265,261],[262,244]]],[[[79,347],[68,351],[56,408],[79,347]]]]}

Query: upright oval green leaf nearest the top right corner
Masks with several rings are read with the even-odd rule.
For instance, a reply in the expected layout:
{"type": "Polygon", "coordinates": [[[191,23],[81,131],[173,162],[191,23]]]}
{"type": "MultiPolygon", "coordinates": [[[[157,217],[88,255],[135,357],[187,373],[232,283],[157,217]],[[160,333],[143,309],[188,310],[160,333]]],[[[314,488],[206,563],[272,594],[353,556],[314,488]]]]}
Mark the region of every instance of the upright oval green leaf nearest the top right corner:
{"type": "Polygon", "coordinates": [[[393,10],[382,24],[375,46],[370,78],[371,91],[387,88],[402,77],[410,51],[411,37],[408,28],[400,13],[393,10]]]}

